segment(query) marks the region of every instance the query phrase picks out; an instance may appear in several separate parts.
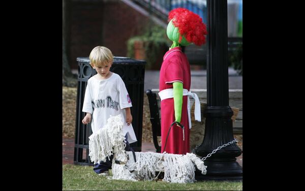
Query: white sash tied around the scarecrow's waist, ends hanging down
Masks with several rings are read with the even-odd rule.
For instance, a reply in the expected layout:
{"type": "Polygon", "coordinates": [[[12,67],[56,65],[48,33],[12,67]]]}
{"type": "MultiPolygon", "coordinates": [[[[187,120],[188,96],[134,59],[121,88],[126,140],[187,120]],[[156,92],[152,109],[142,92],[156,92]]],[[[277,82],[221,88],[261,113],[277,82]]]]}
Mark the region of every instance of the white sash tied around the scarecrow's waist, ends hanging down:
{"type": "MultiPolygon", "coordinates": [[[[201,121],[201,112],[200,112],[200,102],[199,98],[196,93],[192,93],[191,91],[188,91],[187,89],[183,89],[183,95],[188,95],[188,116],[189,116],[189,128],[192,128],[191,123],[191,102],[190,102],[190,96],[194,98],[195,100],[195,120],[201,121]]],[[[173,88],[170,89],[163,89],[159,92],[159,96],[161,101],[168,98],[173,98],[173,88]]]]}

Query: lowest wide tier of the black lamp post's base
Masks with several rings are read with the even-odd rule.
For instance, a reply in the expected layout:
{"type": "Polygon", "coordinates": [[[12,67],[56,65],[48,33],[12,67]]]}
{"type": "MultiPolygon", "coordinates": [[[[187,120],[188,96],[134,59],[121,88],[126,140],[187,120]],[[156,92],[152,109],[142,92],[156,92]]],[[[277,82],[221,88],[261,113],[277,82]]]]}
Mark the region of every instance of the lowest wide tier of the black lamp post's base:
{"type": "Polygon", "coordinates": [[[242,181],[242,167],[235,161],[205,161],[206,174],[196,168],[195,179],[215,181],[242,181]]]}

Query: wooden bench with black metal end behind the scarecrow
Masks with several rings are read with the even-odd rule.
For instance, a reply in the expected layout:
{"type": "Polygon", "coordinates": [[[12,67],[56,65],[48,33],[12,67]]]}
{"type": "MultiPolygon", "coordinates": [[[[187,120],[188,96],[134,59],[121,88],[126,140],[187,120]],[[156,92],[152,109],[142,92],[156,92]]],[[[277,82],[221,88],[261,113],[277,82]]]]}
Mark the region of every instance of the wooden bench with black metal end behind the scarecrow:
{"type": "MultiPolygon", "coordinates": [[[[190,149],[192,150],[196,145],[200,144],[204,137],[205,117],[203,110],[206,107],[206,89],[191,89],[192,92],[198,95],[201,105],[201,122],[194,120],[192,114],[192,129],[190,133],[190,149]]],[[[153,142],[157,152],[161,152],[161,145],[159,143],[161,137],[161,121],[160,121],[160,97],[159,89],[148,89],[146,95],[148,97],[151,131],[153,133],[153,142]]],[[[190,98],[191,104],[194,99],[190,98]]],[[[242,89],[229,89],[229,106],[232,108],[234,115],[233,120],[233,134],[242,134],[242,89]]],[[[194,112],[194,104],[191,113],[194,112]]]]}

